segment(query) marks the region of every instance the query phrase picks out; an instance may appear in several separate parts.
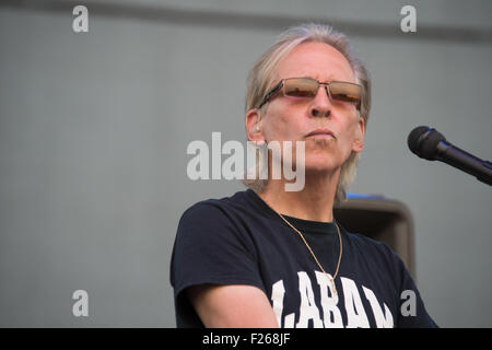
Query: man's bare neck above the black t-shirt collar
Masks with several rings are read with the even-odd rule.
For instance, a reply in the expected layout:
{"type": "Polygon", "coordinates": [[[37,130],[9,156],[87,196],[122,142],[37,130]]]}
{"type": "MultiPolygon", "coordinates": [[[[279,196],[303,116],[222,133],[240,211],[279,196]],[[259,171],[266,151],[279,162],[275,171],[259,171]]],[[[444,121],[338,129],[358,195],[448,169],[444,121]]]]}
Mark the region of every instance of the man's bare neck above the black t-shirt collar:
{"type": "Polygon", "coordinates": [[[274,211],[304,220],[333,221],[333,202],[340,172],[307,174],[300,191],[285,191],[284,179],[269,179],[258,196],[274,211]]]}

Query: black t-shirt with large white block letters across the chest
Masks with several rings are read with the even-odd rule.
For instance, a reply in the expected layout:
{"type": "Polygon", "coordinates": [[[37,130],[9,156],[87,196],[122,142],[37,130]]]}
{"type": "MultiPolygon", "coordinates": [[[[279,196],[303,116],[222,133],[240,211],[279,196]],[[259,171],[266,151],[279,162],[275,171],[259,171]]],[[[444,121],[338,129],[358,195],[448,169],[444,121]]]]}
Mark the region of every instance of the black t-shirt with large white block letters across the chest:
{"type": "Polygon", "coordinates": [[[178,327],[203,327],[184,290],[248,284],[261,289],[280,327],[436,327],[401,259],[384,243],[347,232],[338,222],[285,217],[251,189],[198,202],[183,214],[171,261],[178,327]]]}

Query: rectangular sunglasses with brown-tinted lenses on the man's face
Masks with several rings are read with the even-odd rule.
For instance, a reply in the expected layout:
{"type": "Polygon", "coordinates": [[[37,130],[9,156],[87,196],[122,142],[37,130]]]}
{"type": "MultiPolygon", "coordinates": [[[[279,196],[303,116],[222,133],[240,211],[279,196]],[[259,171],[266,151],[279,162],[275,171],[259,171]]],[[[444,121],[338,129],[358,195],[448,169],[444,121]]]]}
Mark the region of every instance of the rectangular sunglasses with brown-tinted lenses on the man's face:
{"type": "Polygon", "coordinates": [[[361,85],[344,81],[321,83],[309,78],[282,79],[265,95],[258,108],[261,108],[280,90],[282,90],[284,96],[314,98],[318,93],[319,85],[325,85],[325,90],[331,100],[352,103],[361,110],[361,85]]]}

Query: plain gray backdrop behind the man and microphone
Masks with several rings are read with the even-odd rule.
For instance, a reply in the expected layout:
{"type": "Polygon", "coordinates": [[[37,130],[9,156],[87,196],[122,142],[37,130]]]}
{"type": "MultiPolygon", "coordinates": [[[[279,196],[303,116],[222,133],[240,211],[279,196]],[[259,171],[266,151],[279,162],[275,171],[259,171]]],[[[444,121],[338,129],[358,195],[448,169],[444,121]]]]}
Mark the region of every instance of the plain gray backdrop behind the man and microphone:
{"type": "Polygon", "coordinates": [[[418,159],[430,125],[491,160],[490,1],[3,1],[0,5],[0,326],[174,327],[177,222],[243,189],[186,175],[192,140],[245,140],[254,60],[304,21],[344,31],[374,107],[353,192],[407,203],[417,281],[444,327],[492,326],[492,189],[418,159]],[[72,9],[89,8],[89,33],[72,9]],[[417,33],[400,9],[417,9],[417,33]],[[74,317],[72,293],[89,293],[74,317]]]}

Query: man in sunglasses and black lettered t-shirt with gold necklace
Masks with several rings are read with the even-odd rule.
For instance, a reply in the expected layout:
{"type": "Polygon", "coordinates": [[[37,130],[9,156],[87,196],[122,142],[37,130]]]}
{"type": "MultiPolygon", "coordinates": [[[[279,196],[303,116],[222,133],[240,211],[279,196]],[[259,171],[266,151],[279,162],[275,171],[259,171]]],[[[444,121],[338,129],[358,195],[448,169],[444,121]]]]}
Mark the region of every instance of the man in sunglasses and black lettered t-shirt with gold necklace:
{"type": "MultiPolygon", "coordinates": [[[[246,182],[181,217],[171,266],[178,327],[435,327],[402,261],[335,219],[359,152],[371,83],[347,38],[293,27],[251,69],[246,132],[258,144],[305,148],[305,185],[246,182]],[[402,293],[414,312],[401,314],[402,293]],[[407,295],[406,294],[406,295],[407,295]]],[[[295,152],[293,152],[295,153],[295,152]]],[[[270,154],[268,166],[273,160],[270,154]]]]}

